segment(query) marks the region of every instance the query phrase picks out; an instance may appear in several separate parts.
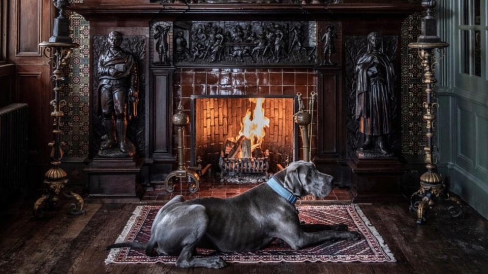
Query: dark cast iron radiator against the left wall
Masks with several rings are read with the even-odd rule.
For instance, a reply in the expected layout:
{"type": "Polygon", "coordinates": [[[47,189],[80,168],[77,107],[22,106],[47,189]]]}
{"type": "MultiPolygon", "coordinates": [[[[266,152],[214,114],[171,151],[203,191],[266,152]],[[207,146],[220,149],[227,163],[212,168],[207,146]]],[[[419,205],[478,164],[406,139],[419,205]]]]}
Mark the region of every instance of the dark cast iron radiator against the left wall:
{"type": "Polygon", "coordinates": [[[0,108],[0,198],[25,191],[27,174],[27,104],[0,108]]]}

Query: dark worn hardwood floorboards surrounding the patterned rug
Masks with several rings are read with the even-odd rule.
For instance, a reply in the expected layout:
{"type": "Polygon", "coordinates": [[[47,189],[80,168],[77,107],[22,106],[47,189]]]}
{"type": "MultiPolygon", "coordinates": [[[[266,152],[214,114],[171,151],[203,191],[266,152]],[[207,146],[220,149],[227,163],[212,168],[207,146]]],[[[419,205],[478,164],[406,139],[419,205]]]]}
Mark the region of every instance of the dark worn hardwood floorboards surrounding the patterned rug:
{"type": "MultiPolygon", "coordinates": [[[[465,206],[451,219],[430,211],[415,223],[407,203],[361,204],[398,260],[396,263],[228,264],[215,269],[174,265],[109,264],[103,247],[115,241],[137,204],[86,204],[86,215],[67,214],[59,204],[44,219],[32,217],[33,198],[4,207],[0,223],[2,273],[486,273],[488,221],[465,206]]],[[[332,202],[332,201],[331,201],[332,202]]]]}

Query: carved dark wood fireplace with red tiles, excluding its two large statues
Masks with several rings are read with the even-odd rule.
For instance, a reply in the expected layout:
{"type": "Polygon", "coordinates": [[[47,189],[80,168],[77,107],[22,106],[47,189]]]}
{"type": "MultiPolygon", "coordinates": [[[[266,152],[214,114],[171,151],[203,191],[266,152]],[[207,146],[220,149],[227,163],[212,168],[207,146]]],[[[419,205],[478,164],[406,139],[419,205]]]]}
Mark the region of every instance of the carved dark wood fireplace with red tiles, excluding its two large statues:
{"type": "MultiPolygon", "coordinates": [[[[183,142],[178,142],[172,123],[180,102],[182,112],[189,115],[189,123],[183,127],[185,150],[181,154],[185,162],[181,166],[195,167],[201,159],[203,165],[211,165],[211,179],[221,183],[216,175],[221,172],[222,156],[233,159],[230,151],[226,153],[226,143],[238,143],[240,123],[248,108],[256,105],[250,99],[258,98],[264,99],[269,125],[264,128],[260,153],[250,152],[251,158],[268,157],[265,162],[270,174],[287,161],[303,159],[301,133],[293,121],[298,93],[304,109],[312,109],[310,158],[317,168],[344,185],[357,187],[353,193],[357,200],[360,195],[376,200],[382,193],[395,192],[403,172],[401,164],[396,164],[398,159],[388,158],[386,164],[381,158],[356,162],[355,151],[363,141],[354,119],[355,62],[368,49],[368,35],[381,33],[396,72],[395,87],[399,86],[400,28],[402,20],[419,6],[406,0],[224,2],[160,5],[139,0],[125,4],[86,0],[73,5],[74,11],[90,22],[90,45],[85,47],[90,51],[92,70],[87,172],[90,186],[100,182],[99,192],[92,188],[90,195],[108,200],[114,196],[133,198],[136,185],[164,183],[180,166],[175,159],[177,146],[183,142]],[[106,37],[111,31],[124,35],[120,47],[134,56],[139,76],[138,115],[129,121],[127,133],[137,153],[128,159],[127,166],[117,158],[97,156],[106,133],[96,113],[101,83],[97,64],[108,48],[106,37]],[[313,93],[316,100],[311,108],[313,93]]],[[[401,90],[395,89],[395,104],[400,94],[401,90]]],[[[398,116],[398,106],[393,109],[398,116]]],[[[399,119],[392,126],[389,141],[399,144],[399,119]]],[[[401,156],[398,146],[394,150],[401,156]]]]}

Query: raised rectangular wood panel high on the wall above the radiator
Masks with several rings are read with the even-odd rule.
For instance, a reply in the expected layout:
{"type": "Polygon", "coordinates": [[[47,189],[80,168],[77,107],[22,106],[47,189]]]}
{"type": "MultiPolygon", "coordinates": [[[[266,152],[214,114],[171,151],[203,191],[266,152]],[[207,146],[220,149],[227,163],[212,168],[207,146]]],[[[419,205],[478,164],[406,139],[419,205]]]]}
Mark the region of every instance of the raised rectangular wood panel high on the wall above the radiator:
{"type": "Polygon", "coordinates": [[[40,56],[42,0],[17,0],[17,56],[40,56]]]}

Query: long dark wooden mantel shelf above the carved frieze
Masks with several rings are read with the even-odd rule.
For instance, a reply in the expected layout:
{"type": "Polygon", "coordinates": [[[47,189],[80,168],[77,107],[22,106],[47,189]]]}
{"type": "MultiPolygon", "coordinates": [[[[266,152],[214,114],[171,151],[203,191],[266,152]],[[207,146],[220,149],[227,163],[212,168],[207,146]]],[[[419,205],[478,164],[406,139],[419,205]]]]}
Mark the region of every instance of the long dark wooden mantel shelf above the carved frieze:
{"type": "Polygon", "coordinates": [[[352,15],[352,14],[411,14],[421,11],[419,5],[406,4],[404,1],[345,1],[341,4],[158,4],[141,3],[142,1],[100,1],[85,0],[82,4],[73,4],[74,10],[87,19],[97,14],[118,16],[133,14],[281,14],[281,15],[352,15]]]}

